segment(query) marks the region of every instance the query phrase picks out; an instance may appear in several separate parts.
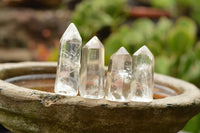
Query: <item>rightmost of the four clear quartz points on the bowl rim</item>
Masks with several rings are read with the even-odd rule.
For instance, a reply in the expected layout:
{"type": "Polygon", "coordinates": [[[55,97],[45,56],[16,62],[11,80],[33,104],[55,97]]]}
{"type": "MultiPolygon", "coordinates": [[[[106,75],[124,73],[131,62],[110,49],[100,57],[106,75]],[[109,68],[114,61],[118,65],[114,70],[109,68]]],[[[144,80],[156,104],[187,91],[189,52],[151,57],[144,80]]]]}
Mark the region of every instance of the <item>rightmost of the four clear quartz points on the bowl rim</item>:
{"type": "Polygon", "coordinates": [[[133,54],[133,80],[131,83],[132,101],[153,100],[154,56],[146,47],[133,54]]]}

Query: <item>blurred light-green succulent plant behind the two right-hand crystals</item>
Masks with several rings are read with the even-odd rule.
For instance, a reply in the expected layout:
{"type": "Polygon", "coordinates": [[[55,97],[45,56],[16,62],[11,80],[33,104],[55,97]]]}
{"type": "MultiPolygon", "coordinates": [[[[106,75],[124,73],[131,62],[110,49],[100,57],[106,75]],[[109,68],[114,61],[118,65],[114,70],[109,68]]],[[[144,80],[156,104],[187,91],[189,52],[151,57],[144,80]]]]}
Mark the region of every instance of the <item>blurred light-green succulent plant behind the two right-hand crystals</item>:
{"type": "Polygon", "coordinates": [[[137,19],[130,26],[121,26],[105,40],[106,64],[110,55],[122,45],[131,54],[147,45],[156,58],[156,72],[200,86],[200,60],[197,58],[200,44],[195,45],[196,34],[196,24],[187,17],[181,17],[175,23],[167,18],[161,18],[157,23],[147,18],[137,19]]]}

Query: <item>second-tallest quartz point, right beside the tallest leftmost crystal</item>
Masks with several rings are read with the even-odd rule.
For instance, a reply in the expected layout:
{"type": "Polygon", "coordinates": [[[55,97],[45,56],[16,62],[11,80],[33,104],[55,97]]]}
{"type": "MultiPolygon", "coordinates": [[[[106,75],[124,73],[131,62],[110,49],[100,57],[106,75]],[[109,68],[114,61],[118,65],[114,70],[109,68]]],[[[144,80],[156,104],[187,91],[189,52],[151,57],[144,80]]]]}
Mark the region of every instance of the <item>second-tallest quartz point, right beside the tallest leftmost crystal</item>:
{"type": "Polygon", "coordinates": [[[96,36],[82,49],[79,91],[85,98],[104,97],[104,46],[96,36]]]}

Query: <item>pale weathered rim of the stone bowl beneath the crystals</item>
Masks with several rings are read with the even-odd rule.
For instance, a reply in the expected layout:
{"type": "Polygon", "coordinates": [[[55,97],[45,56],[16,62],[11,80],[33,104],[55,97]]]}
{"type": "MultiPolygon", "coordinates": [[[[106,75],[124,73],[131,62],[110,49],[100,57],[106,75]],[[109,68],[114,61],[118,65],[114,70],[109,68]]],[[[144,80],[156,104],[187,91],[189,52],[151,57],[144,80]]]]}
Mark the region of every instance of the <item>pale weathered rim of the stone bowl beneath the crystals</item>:
{"type": "Polygon", "coordinates": [[[176,79],[170,76],[155,74],[155,83],[177,89],[181,92],[177,96],[170,96],[163,99],[155,99],[152,102],[113,102],[105,99],[85,99],[80,96],[64,96],[50,92],[28,89],[8,83],[1,79],[12,69],[34,68],[55,68],[56,62],[20,62],[0,64],[0,96],[12,97],[15,100],[40,100],[44,106],[55,104],[79,104],[80,106],[106,106],[113,107],[133,107],[133,108],[166,108],[188,105],[200,106],[200,90],[191,83],[176,79]]]}

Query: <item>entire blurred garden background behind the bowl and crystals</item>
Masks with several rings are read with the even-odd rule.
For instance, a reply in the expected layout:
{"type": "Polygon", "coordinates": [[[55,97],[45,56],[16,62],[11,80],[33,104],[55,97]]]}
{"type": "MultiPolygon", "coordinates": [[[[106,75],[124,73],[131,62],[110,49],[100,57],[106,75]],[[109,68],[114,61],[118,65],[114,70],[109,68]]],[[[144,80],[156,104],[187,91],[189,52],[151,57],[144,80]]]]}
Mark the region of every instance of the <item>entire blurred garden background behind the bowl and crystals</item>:
{"type": "MultiPolygon", "coordinates": [[[[155,72],[200,87],[200,0],[2,0],[0,63],[57,61],[71,22],[83,44],[100,38],[106,65],[121,46],[133,54],[147,45],[155,72]]],[[[183,130],[200,133],[200,114],[183,130]]]]}

